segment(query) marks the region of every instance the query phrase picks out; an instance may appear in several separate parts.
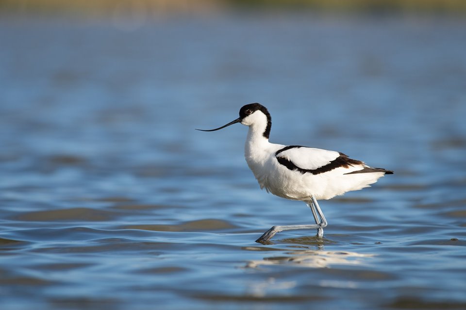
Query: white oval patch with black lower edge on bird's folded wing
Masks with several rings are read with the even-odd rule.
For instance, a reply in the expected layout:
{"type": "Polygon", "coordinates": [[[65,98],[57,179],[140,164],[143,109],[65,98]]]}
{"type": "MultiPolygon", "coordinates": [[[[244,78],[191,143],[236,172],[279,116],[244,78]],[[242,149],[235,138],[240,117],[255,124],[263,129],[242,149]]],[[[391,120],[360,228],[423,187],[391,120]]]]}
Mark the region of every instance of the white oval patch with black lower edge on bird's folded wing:
{"type": "Polygon", "coordinates": [[[314,171],[340,157],[340,153],[292,145],[284,147],[275,153],[277,160],[290,170],[300,169],[305,172],[314,171]]]}

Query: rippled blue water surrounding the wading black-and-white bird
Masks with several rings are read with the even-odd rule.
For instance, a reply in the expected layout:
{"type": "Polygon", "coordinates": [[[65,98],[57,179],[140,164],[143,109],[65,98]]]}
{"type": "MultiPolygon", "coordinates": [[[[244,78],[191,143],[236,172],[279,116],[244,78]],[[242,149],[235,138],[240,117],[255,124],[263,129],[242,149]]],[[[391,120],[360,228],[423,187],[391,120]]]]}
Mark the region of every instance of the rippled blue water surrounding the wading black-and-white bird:
{"type": "Polygon", "coordinates": [[[446,18],[0,21],[1,309],[465,309],[466,31],[446,18]],[[394,170],[261,191],[247,128],[394,170]]]}

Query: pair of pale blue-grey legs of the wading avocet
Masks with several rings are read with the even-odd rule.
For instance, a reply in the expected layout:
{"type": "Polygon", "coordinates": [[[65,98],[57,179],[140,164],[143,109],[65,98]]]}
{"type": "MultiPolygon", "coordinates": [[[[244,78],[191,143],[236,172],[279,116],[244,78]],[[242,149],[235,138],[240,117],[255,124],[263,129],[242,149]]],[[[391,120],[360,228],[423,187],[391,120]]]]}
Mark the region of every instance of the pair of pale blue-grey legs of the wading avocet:
{"type": "Polygon", "coordinates": [[[312,197],[311,201],[306,202],[306,204],[311,208],[312,215],[314,216],[316,224],[273,226],[268,231],[266,231],[259,239],[257,239],[256,242],[264,243],[269,241],[276,233],[295,229],[317,229],[317,236],[322,237],[324,234],[323,228],[327,226],[327,221],[325,220],[322,210],[320,210],[319,204],[317,203],[317,200],[314,197],[312,197]]]}

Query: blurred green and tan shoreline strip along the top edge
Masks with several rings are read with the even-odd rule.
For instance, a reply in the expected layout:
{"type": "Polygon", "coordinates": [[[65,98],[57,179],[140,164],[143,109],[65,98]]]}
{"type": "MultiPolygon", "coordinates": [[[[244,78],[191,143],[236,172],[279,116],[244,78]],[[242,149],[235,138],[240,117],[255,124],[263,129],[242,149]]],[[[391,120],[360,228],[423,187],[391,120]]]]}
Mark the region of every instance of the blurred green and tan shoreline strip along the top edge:
{"type": "Polygon", "coordinates": [[[210,15],[223,12],[291,11],[328,14],[466,14],[464,0],[3,0],[1,15],[71,15],[84,17],[115,14],[146,17],[172,14],[210,15]]]}

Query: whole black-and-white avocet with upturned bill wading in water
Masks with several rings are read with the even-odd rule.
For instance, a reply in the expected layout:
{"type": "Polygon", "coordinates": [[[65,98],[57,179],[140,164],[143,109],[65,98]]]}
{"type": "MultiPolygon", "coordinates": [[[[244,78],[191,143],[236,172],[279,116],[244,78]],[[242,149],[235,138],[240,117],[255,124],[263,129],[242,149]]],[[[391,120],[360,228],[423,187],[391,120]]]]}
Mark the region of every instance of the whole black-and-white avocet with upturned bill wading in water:
{"type": "Polygon", "coordinates": [[[303,228],[316,228],[321,237],[327,221],[317,200],[368,187],[384,174],[393,173],[371,168],[335,151],[270,143],[271,117],[258,103],[242,107],[239,116],[229,124],[203,131],[215,131],[235,123],[249,126],[245,158],[261,188],[279,197],[306,202],[316,221],[316,225],[274,226],[258,242],[266,242],[283,230],[303,228]]]}

